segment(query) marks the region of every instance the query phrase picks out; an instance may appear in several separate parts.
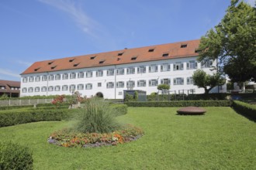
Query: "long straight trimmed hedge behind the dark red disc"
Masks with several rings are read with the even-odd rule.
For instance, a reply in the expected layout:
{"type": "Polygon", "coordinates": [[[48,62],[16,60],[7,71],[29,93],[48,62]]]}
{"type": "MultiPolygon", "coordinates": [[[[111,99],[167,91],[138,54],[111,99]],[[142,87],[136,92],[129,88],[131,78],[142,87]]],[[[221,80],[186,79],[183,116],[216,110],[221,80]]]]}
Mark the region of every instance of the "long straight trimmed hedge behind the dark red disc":
{"type": "Polygon", "coordinates": [[[230,107],[231,100],[181,100],[181,101],[147,101],[126,102],[128,107],[230,107]]]}

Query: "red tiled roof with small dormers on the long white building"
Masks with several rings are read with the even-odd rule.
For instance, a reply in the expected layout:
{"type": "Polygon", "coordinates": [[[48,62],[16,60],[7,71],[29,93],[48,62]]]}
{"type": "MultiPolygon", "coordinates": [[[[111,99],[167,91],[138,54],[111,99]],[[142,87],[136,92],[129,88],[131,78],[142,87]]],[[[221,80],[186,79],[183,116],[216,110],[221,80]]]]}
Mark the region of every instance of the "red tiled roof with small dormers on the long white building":
{"type": "Polygon", "coordinates": [[[198,53],[195,53],[195,49],[198,47],[199,39],[196,39],[157,46],[144,46],[140,48],[121,49],[106,53],[95,53],[84,56],[72,56],[62,59],[44,60],[33,63],[21,74],[74,70],[88,67],[140,63],[153,60],[198,56],[198,53]],[[187,46],[184,47],[184,45],[187,46]],[[154,51],[149,52],[149,49],[154,49],[154,51]],[[168,56],[163,56],[164,54],[168,54],[168,56]]]}

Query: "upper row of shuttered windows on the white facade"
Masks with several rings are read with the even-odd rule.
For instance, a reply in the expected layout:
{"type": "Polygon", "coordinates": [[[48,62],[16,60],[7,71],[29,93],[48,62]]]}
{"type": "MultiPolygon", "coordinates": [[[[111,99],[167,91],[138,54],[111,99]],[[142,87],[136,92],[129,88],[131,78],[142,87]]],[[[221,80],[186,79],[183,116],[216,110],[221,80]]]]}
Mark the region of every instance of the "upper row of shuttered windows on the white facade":
{"type": "MultiPolygon", "coordinates": [[[[174,64],[174,70],[183,70],[183,63],[179,62],[179,63],[175,63],[174,64]]],[[[205,63],[201,63],[201,67],[202,68],[209,68],[213,65],[212,61],[206,61],[205,63]]],[[[197,62],[195,61],[189,61],[189,63],[187,63],[187,69],[191,70],[191,69],[197,69],[197,62]]],[[[135,74],[135,67],[129,67],[126,68],[126,74],[135,74]]],[[[161,65],[161,72],[165,72],[165,71],[170,71],[171,70],[171,65],[170,64],[162,64],[161,65]]],[[[124,75],[124,68],[119,68],[116,69],[116,75],[124,75]]],[[[158,66],[157,65],[151,65],[148,66],[148,72],[149,73],[156,73],[158,72],[158,66]]],[[[87,78],[92,77],[92,71],[87,71],[85,72],[80,72],[78,73],[64,73],[62,74],[62,80],[67,80],[68,78],[70,79],[75,79],[77,76],[78,78],[84,78],[85,76],[87,78]]],[[[137,67],[137,73],[146,73],[146,66],[139,66],[137,67]]],[[[115,75],[115,70],[114,69],[109,69],[107,70],[107,76],[114,76],[115,75]]],[[[103,76],[103,70],[97,70],[96,71],[96,76],[103,76]]],[[[36,76],[35,77],[35,81],[40,81],[41,76],[36,76]]],[[[29,77],[23,77],[22,82],[26,83],[29,80],[29,82],[33,82],[34,81],[34,76],[29,76],[29,77]]],[[[42,76],[42,81],[47,81],[47,80],[61,80],[61,74],[50,74],[49,76],[44,75],[42,76]]]]}

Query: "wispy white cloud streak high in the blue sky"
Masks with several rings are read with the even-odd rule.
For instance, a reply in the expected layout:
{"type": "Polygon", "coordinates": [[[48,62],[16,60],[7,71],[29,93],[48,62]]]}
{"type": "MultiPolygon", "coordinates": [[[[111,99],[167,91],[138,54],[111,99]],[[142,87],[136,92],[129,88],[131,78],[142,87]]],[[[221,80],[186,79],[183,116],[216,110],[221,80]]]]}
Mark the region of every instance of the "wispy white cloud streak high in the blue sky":
{"type": "Polygon", "coordinates": [[[89,36],[97,37],[95,31],[99,31],[101,27],[98,22],[90,18],[82,10],[81,5],[71,0],[38,0],[44,4],[58,8],[59,10],[66,12],[67,15],[77,23],[78,27],[89,36]],[[97,30],[98,29],[98,30],[97,30]]]}

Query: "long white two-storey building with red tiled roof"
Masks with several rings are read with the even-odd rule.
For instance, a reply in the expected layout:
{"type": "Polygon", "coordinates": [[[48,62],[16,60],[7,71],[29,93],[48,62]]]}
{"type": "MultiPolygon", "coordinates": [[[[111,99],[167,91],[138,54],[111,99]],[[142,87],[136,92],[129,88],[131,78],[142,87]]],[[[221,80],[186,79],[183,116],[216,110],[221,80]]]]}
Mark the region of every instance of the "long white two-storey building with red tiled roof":
{"type": "MultiPolygon", "coordinates": [[[[213,73],[216,61],[198,63],[199,40],[74,56],[33,63],[21,74],[21,97],[71,94],[123,98],[123,90],[157,92],[157,84],[168,83],[171,91],[204,93],[193,85],[196,69],[213,73]]],[[[216,92],[216,88],[212,92],[216,92]]]]}

